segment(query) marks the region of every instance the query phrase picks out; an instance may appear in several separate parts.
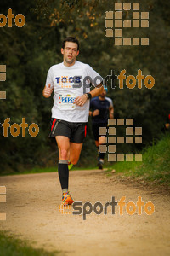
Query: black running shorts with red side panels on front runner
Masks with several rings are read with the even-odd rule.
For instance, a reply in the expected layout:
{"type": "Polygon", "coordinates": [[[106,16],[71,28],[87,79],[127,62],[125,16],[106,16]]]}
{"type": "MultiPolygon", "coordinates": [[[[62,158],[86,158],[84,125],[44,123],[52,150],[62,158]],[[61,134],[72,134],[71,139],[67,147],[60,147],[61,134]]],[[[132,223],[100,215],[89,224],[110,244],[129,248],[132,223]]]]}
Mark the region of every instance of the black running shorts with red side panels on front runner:
{"type": "Polygon", "coordinates": [[[49,137],[65,136],[71,143],[83,143],[87,134],[87,123],[71,123],[60,119],[51,119],[49,137]]]}

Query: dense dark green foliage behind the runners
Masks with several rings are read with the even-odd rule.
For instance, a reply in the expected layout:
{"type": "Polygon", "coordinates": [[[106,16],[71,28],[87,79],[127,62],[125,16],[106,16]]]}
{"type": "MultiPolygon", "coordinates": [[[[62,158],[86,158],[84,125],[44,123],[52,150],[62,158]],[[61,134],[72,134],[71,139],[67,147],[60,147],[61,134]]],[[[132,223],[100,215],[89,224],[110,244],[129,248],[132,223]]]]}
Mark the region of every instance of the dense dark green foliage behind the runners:
{"type": "MultiPolygon", "coordinates": [[[[57,148],[48,139],[49,119],[53,99],[42,97],[48,68],[62,61],[61,42],[66,36],[77,36],[81,43],[78,60],[90,64],[104,78],[114,70],[118,75],[126,69],[126,75],[136,76],[138,69],[144,76],[152,75],[155,86],[149,90],[124,86],[120,90],[109,87],[114,101],[116,118],[133,118],[134,125],[143,127],[143,145],[160,135],[167,114],[170,112],[170,9],[168,1],[143,0],[141,9],[150,12],[148,29],[126,29],[124,37],[133,35],[150,38],[149,46],[115,46],[113,38],[105,37],[105,11],[113,10],[114,3],[106,0],[8,0],[0,3],[0,13],[7,15],[8,8],[14,15],[23,14],[26,25],[0,27],[0,64],[7,65],[7,80],[0,82],[7,91],[7,100],[0,100],[0,122],[10,118],[10,125],[26,122],[39,125],[37,137],[21,133],[3,137],[0,127],[0,170],[18,172],[31,166],[54,165],[57,148]]],[[[132,0],[122,1],[133,3],[132,0]]],[[[129,18],[130,12],[123,13],[129,18]]],[[[144,83],[144,82],[143,82],[144,83]]],[[[110,84],[111,85],[111,84],[110,84]]],[[[125,147],[127,148],[127,146],[125,147]]],[[[139,148],[138,148],[139,149],[139,148]]],[[[122,148],[123,150],[123,148],[122,148]]],[[[132,146],[127,148],[132,150],[132,146]]],[[[82,163],[94,159],[94,138],[90,125],[88,137],[82,149],[82,163]]]]}

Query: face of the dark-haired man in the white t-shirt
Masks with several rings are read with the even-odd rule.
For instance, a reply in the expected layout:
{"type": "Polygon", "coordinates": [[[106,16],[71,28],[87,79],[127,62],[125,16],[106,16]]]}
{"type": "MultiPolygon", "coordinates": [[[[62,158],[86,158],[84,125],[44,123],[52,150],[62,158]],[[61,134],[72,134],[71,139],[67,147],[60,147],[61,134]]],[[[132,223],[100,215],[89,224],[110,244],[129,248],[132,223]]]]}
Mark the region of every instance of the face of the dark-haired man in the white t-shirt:
{"type": "Polygon", "coordinates": [[[61,53],[64,57],[65,66],[72,66],[76,61],[76,57],[79,54],[79,50],[77,50],[77,43],[66,42],[65,48],[61,48],[61,53]]]}

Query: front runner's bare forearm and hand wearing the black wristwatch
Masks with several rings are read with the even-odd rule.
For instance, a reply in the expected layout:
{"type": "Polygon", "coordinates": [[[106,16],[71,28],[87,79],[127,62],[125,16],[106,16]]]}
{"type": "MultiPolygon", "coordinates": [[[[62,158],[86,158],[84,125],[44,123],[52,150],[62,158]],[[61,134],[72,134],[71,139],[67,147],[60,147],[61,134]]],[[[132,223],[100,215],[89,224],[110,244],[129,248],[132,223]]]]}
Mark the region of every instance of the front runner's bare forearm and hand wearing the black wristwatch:
{"type": "MultiPolygon", "coordinates": [[[[104,90],[103,85],[99,84],[98,86],[96,86],[96,88],[94,88],[94,90],[90,91],[90,94],[92,95],[92,98],[94,98],[95,96],[99,96],[99,94],[101,94],[103,90],[104,90]]],[[[83,106],[87,101],[88,101],[88,97],[86,94],[83,94],[82,96],[77,96],[77,98],[75,99],[75,103],[78,106],[83,106]]]]}

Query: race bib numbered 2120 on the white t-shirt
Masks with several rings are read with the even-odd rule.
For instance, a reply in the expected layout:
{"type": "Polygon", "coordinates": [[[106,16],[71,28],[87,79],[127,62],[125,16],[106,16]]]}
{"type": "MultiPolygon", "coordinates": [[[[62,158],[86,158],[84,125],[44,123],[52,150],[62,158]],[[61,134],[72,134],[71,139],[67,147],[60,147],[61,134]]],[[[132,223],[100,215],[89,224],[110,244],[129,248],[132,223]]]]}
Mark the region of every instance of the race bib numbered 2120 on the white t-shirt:
{"type": "Polygon", "coordinates": [[[76,96],[72,93],[59,94],[59,108],[75,109],[76,104],[73,104],[76,96]]]}

